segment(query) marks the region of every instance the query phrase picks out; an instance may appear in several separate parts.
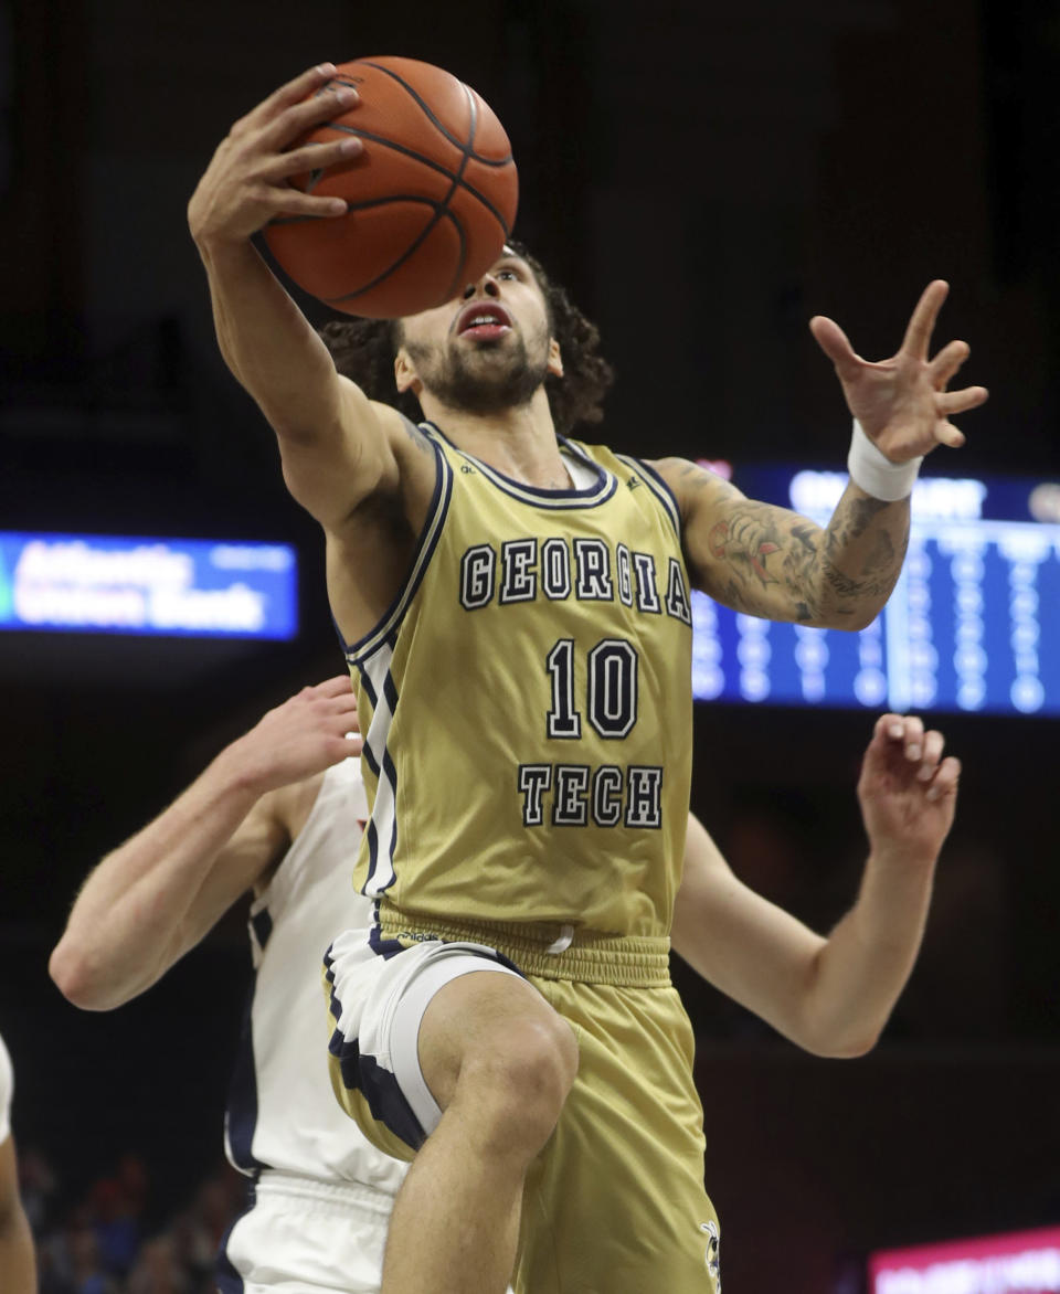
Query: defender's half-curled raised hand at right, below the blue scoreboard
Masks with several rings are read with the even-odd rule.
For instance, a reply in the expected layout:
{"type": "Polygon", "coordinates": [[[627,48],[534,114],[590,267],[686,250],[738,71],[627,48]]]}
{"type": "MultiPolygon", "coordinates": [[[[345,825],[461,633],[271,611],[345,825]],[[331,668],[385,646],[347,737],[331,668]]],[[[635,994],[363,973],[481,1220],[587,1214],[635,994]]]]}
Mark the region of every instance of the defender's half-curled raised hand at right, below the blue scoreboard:
{"type": "Polygon", "coordinates": [[[953,826],[960,761],[942,758],[941,732],[920,719],[884,714],[865,752],[858,800],[872,849],[932,862],[953,826]]]}

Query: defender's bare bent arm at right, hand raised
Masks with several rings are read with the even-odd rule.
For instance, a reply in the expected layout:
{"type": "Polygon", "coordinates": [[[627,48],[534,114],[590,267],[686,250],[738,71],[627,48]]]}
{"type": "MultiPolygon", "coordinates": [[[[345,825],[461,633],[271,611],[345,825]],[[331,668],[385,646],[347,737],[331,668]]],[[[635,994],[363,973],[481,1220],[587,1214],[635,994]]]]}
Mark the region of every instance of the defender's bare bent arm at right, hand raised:
{"type": "Polygon", "coordinates": [[[960,766],[941,753],[941,735],[918,719],[876,723],[858,783],[868,861],[857,902],[827,939],[743,885],[690,817],[674,950],[806,1051],[870,1051],[916,959],[953,823],[960,766]]]}

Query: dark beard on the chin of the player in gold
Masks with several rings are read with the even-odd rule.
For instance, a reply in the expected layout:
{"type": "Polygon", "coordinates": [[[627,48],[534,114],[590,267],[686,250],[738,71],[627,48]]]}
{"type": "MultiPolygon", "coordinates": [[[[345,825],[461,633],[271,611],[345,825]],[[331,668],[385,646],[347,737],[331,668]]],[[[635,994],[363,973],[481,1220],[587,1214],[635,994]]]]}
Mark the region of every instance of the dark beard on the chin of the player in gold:
{"type": "Polygon", "coordinates": [[[425,388],[448,409],[463,413],[489,415],[528,405],[549,373],[547,335],[535,345],[540,358],[531,358],[520,335],[507,345],[478,343],[474,351],[410,342],[405,347],[425,388]]]}

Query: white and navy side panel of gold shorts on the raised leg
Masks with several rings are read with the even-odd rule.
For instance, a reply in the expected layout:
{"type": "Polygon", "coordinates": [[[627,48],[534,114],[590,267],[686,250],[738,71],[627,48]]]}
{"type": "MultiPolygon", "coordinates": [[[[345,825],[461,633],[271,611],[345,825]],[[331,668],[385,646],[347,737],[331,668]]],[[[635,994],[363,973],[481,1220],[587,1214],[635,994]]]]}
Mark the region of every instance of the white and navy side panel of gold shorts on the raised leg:
{"type": "Polygon", "coordinates": [[[441,1110],[419,1069],[419,1022],[443,985],[478,970],[523,976],[484,943],[404,947],[378,927],[344,930],[324,959],[331,1080],[343,1109],[387,1154],[410,1159],[441,1110]]]}

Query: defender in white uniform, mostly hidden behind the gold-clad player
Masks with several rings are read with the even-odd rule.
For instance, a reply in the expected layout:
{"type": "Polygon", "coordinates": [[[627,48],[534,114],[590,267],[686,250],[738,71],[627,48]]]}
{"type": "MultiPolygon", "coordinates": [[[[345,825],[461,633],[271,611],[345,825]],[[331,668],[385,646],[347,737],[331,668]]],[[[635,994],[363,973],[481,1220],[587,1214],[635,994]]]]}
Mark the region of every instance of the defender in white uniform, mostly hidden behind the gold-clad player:
{"type": "MultiPolygon", "coordinates": [[[[334,1102],[320,1046],[321,950],[337,921],[370,919],[349,884],[368,814],[360,763],[346,757],[359,749],[346,736],[351,703],[348,678],[329,679],[228,747],[96,867],[50,960],[75,1005],[111,1009],[254,890],[255,981],[225,1137],[254,1187],[221,1246],[223,1294],[375,1294],[405,1172],[334,1102]]],[[[690,817],[677,952],[806,1049],[868,1051],[911,969],[953,822],[959,765],[941,756],[941,735],[918,719],[876,723],[858,785],[870,857],[857,903],[827,939],[740,884],[690,817]],[[907,736],[923,747],[919,762],[905,757],[907,736]]]]}

